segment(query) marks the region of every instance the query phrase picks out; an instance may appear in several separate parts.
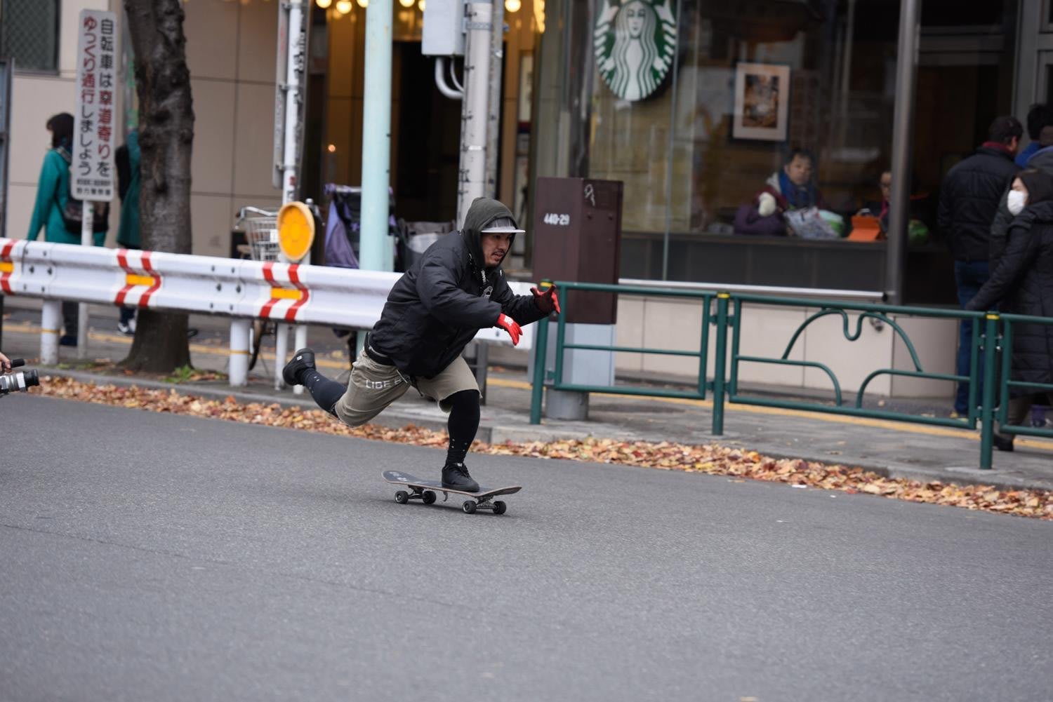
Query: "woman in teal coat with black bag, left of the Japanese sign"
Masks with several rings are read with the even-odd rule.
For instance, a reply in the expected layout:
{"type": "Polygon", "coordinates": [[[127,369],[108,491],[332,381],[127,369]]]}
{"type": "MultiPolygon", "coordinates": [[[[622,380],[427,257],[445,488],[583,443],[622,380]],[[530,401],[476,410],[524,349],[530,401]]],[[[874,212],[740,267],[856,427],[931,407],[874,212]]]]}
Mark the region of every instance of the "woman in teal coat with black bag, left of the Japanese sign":
{"type": "MultiPolygon", "coordinates": [[[[52,133],[52,148],[44,155],[44,165],[40,169],[37,183],[37,201],[29,220],[26,239],[36,241],[41,227],[44,241],[58,244],[79,244],[80,233],[66,229],[62,209],[69,199],[69,149],[73,146],[73,115],[60,113],[47,120],[47,131],[52,133]]],[[[100,223],[102,224],[102,223],[100,223]]],[[[95,245],[101,246],[106,238],[104,227],[95,232],[95,245]]],[[[77,303],[62,303],[64,334],[59,339],[63,346],[77,345],[77,303]]]]}

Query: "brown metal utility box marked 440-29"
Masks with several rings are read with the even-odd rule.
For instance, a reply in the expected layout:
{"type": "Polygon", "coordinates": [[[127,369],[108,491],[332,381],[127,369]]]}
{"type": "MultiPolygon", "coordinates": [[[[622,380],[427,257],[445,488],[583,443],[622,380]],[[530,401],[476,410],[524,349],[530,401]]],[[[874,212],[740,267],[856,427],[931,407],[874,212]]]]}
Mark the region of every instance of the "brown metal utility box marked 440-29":
{"type": "MultiPolygon", "coordinates": [[[[617,284],[621,181],[538,178],[534,193],[534,277],[617,284]]],[[[615,323],[614,294],[575,290],[570,296],[568,322],[615,323]]]]}

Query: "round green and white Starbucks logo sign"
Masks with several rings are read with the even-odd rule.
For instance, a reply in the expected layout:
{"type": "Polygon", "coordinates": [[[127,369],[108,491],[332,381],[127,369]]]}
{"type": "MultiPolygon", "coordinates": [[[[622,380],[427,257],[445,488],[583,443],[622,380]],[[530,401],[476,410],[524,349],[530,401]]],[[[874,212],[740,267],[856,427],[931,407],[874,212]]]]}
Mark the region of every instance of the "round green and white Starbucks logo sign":
{"type": "Polygon", "coordinates": [[[625,100],[642,100],[665,79],[676,56],[672,0],[599,0],[593,33],[603,82],[625,100]]]}

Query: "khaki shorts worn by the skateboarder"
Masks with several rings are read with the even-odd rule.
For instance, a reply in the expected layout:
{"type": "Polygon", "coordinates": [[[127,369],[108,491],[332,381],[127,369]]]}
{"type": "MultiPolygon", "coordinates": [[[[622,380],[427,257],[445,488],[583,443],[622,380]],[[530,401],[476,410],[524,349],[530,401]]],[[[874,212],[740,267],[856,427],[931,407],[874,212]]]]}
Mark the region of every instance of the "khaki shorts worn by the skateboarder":
{"type": "MultiPolygon", "coordinates": [[[[439,407],[446,413],[450,412],[450,405],[443,401],[451,395],[461,390],[479,390],[472,369],[460,356],[434,378],[417,378],[416,381],[420,394],[438,401],[439,407]]],[[[363,349],[351,369],[347,392],[334,407],[336,416],[344,424],[365,424],[402,397],[411,386],[409,378],[399,373],[398,368],[377,363],[363,349]]]]}

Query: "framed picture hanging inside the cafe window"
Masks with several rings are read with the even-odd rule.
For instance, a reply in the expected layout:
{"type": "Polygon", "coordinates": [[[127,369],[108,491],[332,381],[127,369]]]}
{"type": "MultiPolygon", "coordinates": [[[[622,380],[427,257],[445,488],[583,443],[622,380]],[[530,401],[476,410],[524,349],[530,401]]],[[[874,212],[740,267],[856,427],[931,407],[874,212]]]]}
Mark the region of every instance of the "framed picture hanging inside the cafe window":
{"type": "Polygon", "coordinates": [[[790,66],[735,64],[734,139],[786,141],[790,118],[790,66]]]}

